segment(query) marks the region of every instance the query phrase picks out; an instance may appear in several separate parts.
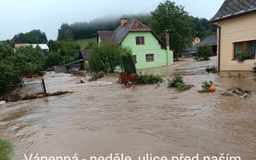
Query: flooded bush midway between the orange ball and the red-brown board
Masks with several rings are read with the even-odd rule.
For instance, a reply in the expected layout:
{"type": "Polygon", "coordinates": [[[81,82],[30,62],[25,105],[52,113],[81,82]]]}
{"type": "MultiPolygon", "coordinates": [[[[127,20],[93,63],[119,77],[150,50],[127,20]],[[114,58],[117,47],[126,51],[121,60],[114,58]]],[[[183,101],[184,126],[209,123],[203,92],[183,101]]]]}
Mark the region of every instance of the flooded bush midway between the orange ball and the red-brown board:
{"type": "Polygon", "coordinates": [[[184,91],[184,90],[190,90],[190,88],[193,85],[187,85],[185,82],[183,82],[183,78],[181,75],[176,75],[175,78],[172,78],[171,80],[169,80],[167,87],[171,88],[177,88],[178,91],[184,91]]]}

